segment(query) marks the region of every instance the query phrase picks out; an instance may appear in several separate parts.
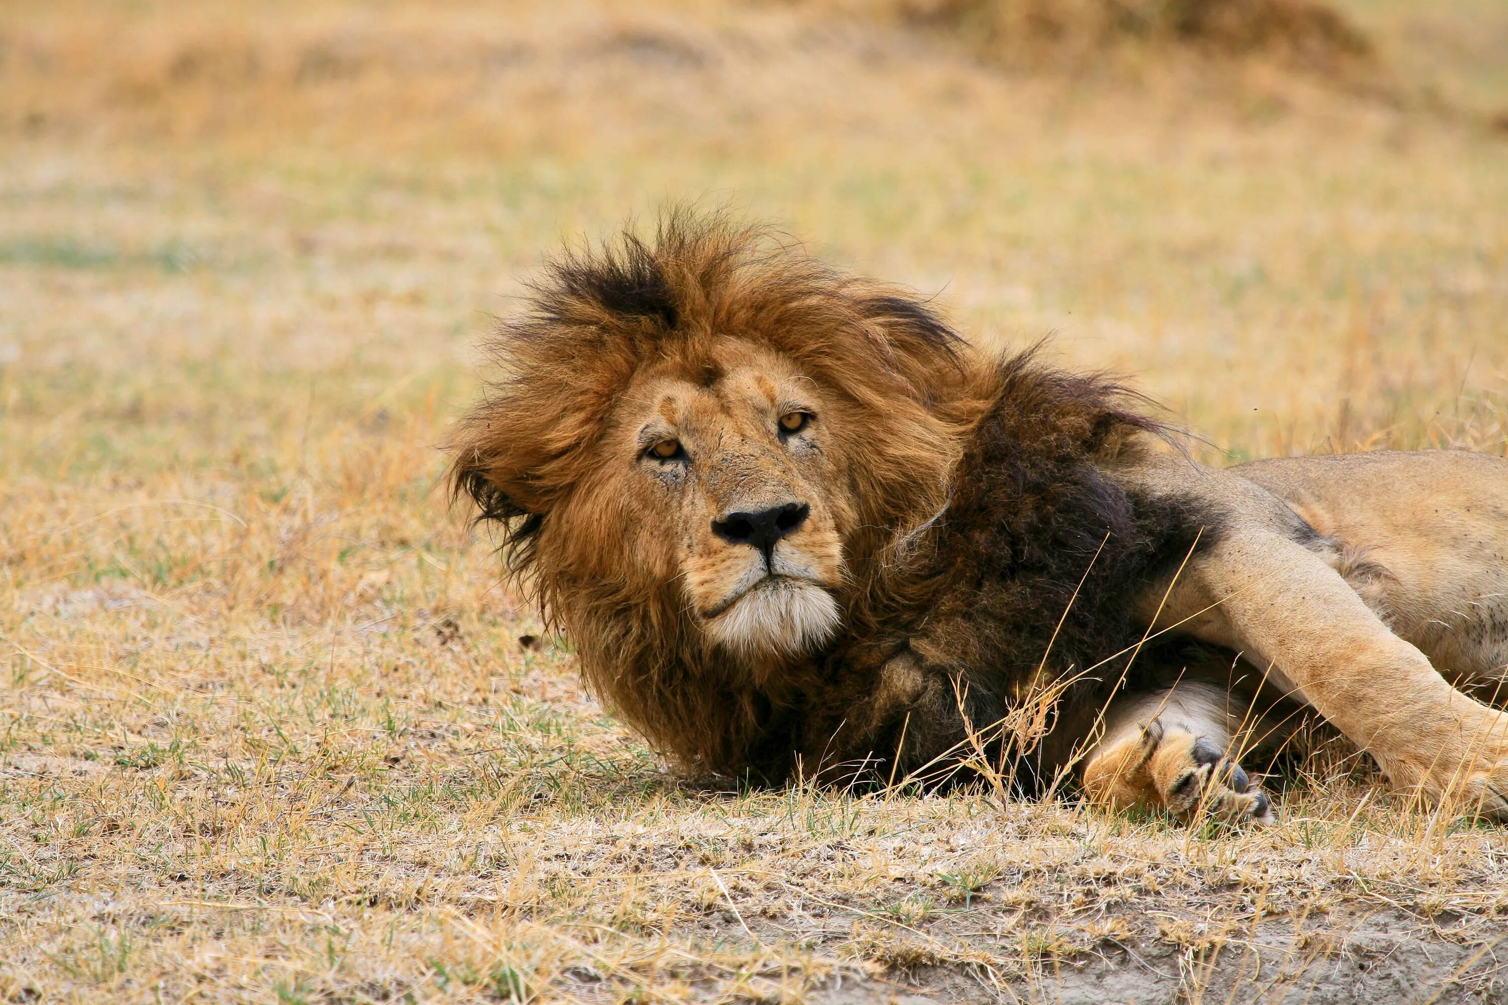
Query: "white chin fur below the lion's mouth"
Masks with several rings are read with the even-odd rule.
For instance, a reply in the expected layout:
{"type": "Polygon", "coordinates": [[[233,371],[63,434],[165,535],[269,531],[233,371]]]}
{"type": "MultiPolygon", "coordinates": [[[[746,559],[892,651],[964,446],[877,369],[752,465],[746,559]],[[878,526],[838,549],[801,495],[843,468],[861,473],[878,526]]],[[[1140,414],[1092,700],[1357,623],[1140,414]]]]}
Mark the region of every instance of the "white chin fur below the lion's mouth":
{"type": "Polygon", "coordinates": [[[706,622],[707,637],[743,658],[798,655],[832,637],[843,619],[832,594],[793,579],[768,579],[706,622]]]}

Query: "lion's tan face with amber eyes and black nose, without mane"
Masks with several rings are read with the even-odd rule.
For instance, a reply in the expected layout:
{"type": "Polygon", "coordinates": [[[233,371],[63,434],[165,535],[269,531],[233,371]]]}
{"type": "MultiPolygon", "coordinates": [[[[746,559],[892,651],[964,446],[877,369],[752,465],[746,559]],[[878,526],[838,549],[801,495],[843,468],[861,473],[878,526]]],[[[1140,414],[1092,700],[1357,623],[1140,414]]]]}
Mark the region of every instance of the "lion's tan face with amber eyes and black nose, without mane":
{"type": "Polygon", "coordinates": [[[635,377],[603,448],[623,487],[629,553],[680,585],[706,637],[737,657],[783,657],[840,621],[843,405],[777,353],[719,341],[692,368],[635,377]]]}

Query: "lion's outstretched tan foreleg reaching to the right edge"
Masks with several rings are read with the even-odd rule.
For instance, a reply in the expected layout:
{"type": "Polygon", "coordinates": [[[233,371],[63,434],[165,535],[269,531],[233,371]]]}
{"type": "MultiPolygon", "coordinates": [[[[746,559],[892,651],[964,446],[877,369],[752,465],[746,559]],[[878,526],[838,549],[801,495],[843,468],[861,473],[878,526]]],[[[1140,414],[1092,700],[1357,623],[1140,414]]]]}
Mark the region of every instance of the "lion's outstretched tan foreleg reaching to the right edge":
{"type": "Polygon", "coordinates": [[[1508,716],[1451,687],[1330,565],[1252,532],[1228,536],[1185,576],[1160,625],[1182,622],[1280,671],[1395,785],[1508,818],[1508,716]]]}

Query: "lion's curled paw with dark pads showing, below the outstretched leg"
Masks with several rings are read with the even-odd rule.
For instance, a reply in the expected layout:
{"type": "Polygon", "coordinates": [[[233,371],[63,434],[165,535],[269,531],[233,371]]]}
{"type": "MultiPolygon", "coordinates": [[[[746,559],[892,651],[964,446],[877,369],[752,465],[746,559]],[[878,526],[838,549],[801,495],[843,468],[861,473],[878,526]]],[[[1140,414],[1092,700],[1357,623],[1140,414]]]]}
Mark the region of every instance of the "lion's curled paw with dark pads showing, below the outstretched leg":
{"type": "Polygon", "coordinates": [[[1164,806],[1184,820],[1273,823],[1271,799],[1229,755],[1229,702],[1223,687],[1202,681],[1116,701],[1084,761],[1084,793],[1104,806],[1164,806]]]}

